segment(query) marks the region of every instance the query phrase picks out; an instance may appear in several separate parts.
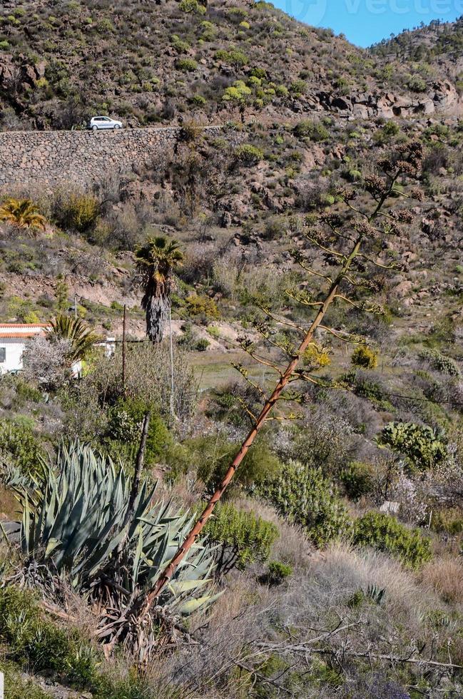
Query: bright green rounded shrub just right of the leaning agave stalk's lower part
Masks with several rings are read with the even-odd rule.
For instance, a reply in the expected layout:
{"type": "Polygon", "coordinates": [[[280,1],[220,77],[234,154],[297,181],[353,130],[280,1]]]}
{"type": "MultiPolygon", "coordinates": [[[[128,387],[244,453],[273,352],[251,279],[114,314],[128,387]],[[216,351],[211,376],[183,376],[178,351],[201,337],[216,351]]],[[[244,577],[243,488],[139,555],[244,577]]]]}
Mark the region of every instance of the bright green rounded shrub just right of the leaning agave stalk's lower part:
{"type": "Polygon", "coordinates": [[[278,527],[253,512],[237,510],[231,503],[220,503],[204,528],[218,552],[218,573],[231,568],[243,569],[255,561],[265,562],[275,539],[278,527]]]}

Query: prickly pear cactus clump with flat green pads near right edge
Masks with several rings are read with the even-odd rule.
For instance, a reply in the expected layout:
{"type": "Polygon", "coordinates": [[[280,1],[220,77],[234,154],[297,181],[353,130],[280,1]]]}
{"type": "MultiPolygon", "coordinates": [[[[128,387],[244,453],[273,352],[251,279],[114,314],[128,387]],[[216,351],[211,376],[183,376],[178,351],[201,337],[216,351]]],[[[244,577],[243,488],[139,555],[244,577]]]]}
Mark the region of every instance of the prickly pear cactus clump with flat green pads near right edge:
{"type": "Polygon", "coordinates": [[[378,443],[403,454],[409,466],[419,471],[443,461],[447,448],[432,427],[412,422],[389,422],[383,427],[378,443]]]}

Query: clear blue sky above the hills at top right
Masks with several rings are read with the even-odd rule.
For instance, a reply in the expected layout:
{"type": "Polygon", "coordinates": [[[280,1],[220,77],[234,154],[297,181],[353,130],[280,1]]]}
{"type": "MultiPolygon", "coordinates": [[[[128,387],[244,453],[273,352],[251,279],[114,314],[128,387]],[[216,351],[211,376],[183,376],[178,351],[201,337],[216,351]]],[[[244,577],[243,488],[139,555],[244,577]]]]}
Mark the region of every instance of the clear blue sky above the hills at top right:
{"type": "Polygon", "coordinates": [[[273,4],[306,24],[343,32],[357,46],[370,46],[422,21],[453,21],[463,15],[463,0],[273,0],[273,4]]]}

